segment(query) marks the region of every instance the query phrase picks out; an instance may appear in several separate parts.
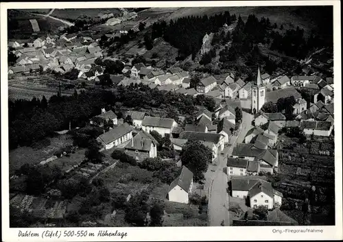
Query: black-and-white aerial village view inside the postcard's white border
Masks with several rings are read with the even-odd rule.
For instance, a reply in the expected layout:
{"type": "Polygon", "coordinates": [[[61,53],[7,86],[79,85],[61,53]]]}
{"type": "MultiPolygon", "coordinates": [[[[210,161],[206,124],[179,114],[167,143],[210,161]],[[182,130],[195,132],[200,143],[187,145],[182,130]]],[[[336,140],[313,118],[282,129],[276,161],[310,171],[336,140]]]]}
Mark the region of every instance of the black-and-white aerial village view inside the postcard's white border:
{"type": "Polygon", "coordinates": [[[10,228],[335,225],[332,5],[10,9],[7,43],[10,228]]]}

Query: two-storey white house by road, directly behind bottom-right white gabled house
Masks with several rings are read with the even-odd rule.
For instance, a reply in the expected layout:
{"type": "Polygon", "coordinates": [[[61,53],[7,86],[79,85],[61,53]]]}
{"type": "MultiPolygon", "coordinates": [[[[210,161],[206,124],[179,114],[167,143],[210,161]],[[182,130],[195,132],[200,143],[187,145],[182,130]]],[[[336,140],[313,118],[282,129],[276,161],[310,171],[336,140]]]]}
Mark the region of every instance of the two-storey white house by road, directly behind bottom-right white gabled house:
{"type": "Polygon", "coordinates": [[[259,162],[242,158],[228,157],[228,176],[257,176],[260,171],[259,162]]]}

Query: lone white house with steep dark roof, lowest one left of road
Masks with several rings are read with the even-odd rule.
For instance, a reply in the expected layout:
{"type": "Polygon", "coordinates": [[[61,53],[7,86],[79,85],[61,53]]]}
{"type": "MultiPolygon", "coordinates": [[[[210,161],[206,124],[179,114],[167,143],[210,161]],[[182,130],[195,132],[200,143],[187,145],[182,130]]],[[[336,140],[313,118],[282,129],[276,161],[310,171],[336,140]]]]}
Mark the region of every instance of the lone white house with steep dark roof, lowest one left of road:
{"type": "Polygon", "coordinates": [[[189,194],[193,186],[193,173],[183,166],[180,176],[171,182],[168,191],[168,199],[171,202],[189,203],[189,194]]]}

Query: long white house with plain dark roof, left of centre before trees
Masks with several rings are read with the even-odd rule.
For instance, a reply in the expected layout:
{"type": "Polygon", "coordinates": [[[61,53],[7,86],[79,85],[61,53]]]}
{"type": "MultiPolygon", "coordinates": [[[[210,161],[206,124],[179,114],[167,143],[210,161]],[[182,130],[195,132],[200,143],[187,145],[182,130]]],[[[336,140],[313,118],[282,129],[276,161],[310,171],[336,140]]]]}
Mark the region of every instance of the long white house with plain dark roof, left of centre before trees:
{"type": "Polygon", "coordinates": [[[176,123],[174,119],[145,116],[142,121],[142,129],[145,132],[151,132],[154,130],[162,136],[171,136],[171,131],[174,127],[178,127],[178,123],[176,123]]]}

